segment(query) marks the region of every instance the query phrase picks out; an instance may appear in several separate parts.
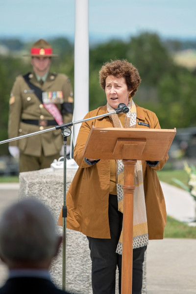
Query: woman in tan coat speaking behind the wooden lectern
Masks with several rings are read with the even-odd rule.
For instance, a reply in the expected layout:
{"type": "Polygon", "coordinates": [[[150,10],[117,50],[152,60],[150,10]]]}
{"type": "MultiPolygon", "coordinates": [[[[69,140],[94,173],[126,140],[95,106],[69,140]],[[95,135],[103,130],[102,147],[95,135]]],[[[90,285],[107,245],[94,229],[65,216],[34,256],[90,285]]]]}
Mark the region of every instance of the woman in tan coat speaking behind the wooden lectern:
{"type": "MultiPolygon", "coordinates": [[[[73,158],[79,168],[67,193],[67,228],[80,231],[88,238],[93,294],[115,294],[117,267],[121,293],[124,173],[122,160],[84,158],[83,150],[92,126],[160,129],[155,113],[133,102],[140,82],[137,69],[128,61],[105,63],[99,71],[99,83],[107,104],[90,111],[85,118],[112,112],[120,103],[129,111],[83,122],[74,147],[73,158]]],[[[166,208],[156,170],[160,170],[167,159],[137,160],[135,166],[134,182],[138,185],[134,191],[132,294],[142,293],[148,240],[163,239],[166,208]]],[[[59,225],[62,225],[61,215],[59,225]]]]}

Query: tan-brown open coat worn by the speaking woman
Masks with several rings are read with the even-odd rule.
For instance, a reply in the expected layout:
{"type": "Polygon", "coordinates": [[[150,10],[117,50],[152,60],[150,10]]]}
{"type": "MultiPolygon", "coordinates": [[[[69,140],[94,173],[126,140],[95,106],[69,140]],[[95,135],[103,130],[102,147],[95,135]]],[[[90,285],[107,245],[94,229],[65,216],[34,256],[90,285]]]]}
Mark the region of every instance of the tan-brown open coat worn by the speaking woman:
{"type": "MultiPolygon", "coordinates": [[[[157,116],[152,111],[137,107],[137,128],[148,128],[138,125],[138,122],[149,124],[152,129],[160,129],[157,116]]],[[[106,106],[90,111],[85,118],[106,113],[106,106]]],[[[110,187],[110,162],[100,160],[93,166],[88,165],[82,155],[84,145],[92,126],[111,128],[112,120],[107,117],[82,123],[76,145],[74,160],[79,168],[73,178],[67,193],[67,228],[82,232],[93,238],[110,238],[108,219],[108,197],[110,187]]],[[[101,142],[100,142],[101,144],[101,142]]],[[[166,207],[163,192],[156,174],[162,169],[165,160],[156,167],[150,167],[142,162],[144,190],[147,208],[147,225],[149,239],[163,239],[166,224],[166,207]]],[[[58,225],[62,226],[62,213],[58,225]]]]}

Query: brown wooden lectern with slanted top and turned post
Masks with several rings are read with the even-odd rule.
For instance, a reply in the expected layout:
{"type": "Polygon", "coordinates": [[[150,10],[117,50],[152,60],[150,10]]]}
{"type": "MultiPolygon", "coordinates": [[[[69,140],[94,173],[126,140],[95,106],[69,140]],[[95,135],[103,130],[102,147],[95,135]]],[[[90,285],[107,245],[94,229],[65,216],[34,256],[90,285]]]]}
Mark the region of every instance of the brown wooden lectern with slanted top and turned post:
{"type": "Polygon", "coordinates": [[[123,256],[122,294],[132,293],[133,194],[137,160],[163,160],[168,154],[176,129],[94,128],[84,147],[84,156],[92,159],[123,160],[123,256]]]}

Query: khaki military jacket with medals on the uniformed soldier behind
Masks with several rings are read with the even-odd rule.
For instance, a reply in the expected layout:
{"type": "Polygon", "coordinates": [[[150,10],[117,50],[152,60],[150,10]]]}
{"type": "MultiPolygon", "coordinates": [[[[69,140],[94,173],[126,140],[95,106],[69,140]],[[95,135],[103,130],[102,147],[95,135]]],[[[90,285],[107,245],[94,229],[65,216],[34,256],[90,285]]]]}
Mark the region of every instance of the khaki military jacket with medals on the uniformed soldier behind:
{"type": "MultiPolygon", "coordinates": [[[[35,74],[29,74],[29,81],[39,87],[43,92],[62,91],[63,100],[73,103],[73,92],[69,78],[64,74],[49,73],[47,80],[41,86],[35,74]]],[[[56,104],[61,109],[61,104],[56,104]]],[[[18,76],[13,85],[9,101],[8,136],[17,137],[37,132],[52,126],[43,127],[26,124],[22,120],[54,120],[53,116],[43,106],[42,102],[29,88],[23,76],[18,76]]],[[[72,113],[63,114],[64,123],[72,121],[72,113]]],[[[56,125],[56,124],[55,124],[56,125]]],[[[36,134],[10,142],[10,146],[18,146],[21,153],[32,156],[41,156],[42,149],[45,156],[57,154],[62,147],[63,137],[60,130],[36,134]]]]}

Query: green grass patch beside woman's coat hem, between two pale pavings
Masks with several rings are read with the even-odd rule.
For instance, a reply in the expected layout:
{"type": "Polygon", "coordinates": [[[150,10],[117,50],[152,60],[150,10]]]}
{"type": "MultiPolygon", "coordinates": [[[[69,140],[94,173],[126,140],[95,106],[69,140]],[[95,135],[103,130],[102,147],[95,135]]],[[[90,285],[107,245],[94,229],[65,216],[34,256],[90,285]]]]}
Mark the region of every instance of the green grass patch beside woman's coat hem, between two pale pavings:
{"type": "Polygon", "coordinates": [[[167,216],[164,238],[189,238],[196,239],[196,227],[190,227],[171,216],[167,216]]]}

